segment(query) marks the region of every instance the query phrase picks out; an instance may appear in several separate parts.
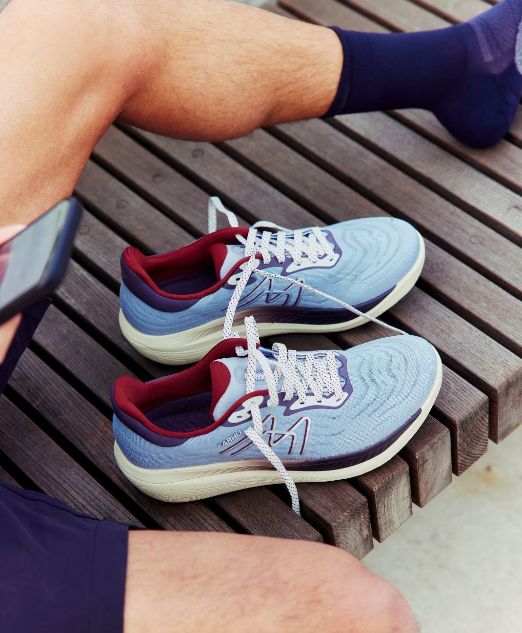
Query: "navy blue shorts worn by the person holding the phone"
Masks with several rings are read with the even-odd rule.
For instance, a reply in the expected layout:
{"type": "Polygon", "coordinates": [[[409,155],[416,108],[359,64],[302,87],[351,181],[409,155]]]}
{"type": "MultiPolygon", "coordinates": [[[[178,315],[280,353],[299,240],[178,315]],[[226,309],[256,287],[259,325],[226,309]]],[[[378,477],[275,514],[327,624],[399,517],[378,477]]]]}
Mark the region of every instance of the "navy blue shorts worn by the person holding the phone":
{"type": "MultiPolygon", "coordinates": [[[[3,391],[49,302],[24,315],[3,391]]],[[[122,633],[128,526],[0,482],[0,632],[122,633]]]]}

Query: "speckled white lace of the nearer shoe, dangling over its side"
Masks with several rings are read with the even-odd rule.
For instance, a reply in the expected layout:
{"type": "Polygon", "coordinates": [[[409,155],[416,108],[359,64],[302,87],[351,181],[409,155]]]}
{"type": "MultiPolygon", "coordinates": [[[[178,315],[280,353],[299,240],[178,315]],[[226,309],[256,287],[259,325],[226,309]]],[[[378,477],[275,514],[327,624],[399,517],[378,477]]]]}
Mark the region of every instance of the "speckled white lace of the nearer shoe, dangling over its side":
{"type": "MultiPolygon", "coordinates": [[[[238,356],[248,356],[247,394],[256,391],[256,366],[259,363],[268,389],[269,398],[266,402],[268,406],[276,406],[279,402],[278,384],[281,378],[283,379],[282,389],[285,392],[283,400],[290,400],[297,394],[299,402],[304,404],[307,392],[312,391],[316,401],[320,403],[325,390],[328,395],[333,393],[337,401],[342,399],[344,392],[339,378],[339,366],[333,351],[325,351],[323,358],[317,358],[312,352],[308,352],[303,362],[297,358],[295,349],[287,349],[282,343],[274,343],[272,349],[277,353],[277,360],[270,363],[258,349],[259,333],[253,316],[245,318],[245,327],[247,349],[238,346],[235,351],[238,356]],[[275,365],[274,369],[273,365],[275,365]]],[[[299,494],[297,494],[295,482],[283,462],[263,439],[263,420],[259,404],[252,403],[250,412],[253,426],[249,427],[245,434],[280,474],[290,492],[292,510],[300,515],[299,494]]]]}

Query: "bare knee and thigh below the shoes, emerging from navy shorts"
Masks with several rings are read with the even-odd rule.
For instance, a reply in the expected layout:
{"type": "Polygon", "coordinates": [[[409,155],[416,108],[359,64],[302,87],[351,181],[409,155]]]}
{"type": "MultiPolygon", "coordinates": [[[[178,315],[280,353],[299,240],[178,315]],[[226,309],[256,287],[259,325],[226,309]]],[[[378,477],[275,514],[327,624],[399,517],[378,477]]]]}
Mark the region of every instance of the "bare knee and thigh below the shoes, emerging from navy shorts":
{"type": "Polygon", "coordinates": [[[131,532],[124,633],[416,633],[401,594],[326,545],[131,532]]]}

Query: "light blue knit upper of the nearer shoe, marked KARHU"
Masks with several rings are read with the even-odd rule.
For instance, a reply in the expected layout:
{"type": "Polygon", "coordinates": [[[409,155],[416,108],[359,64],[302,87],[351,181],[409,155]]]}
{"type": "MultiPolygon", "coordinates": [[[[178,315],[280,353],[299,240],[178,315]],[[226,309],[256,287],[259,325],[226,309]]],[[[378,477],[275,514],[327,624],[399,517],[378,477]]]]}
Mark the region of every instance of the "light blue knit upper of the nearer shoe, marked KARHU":
{"type": "MultiPolygon", "coordinates": [[[[353,390],[340,406],[333,403],[332,398],[333,408],[309,406],[290,411],[280,398],[278,406],[261,407],[261,416],[266,419],[264,432],[271,429],[271,437],[280,438],[273,450],[282,460],[342,456],[382,441],[423,407],[437,379],[435,350],[419,337],[398,335],[378,339],[339,354],[347,359],[353,390]],[[284,437],[278,435],[278,431],[282,431],[284,437]],[[289,454],[292,432],[294,448],[289,454]]],[[[256,384],[256,389],[262,388],[256,384]]],[[[346,385],[344,390],[349,392],[346,385]]],[[[211,432],[169,447],[152,444],[128,429],[116,416],[113,429],[123,454],[142,468],[264,460],[253,445],[235,456],[232,449],[223,452],[228,444],[237,444],[237,448],[245,446],[248,443],[245,430],[252,425],[250,417],[237,424],[233,423],[232,416],[228,420],[211,432]]]]}

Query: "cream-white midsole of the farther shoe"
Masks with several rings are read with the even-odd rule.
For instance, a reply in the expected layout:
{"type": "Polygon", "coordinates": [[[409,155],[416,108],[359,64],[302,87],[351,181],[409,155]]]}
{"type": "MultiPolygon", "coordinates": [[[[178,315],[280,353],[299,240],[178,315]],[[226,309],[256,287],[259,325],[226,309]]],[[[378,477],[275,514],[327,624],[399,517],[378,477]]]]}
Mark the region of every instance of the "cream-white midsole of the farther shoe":
{"type": "MultiPolygon", "coordinates": [[[[374,308],[368,310],[368,316],[382,315],[383,312],[391,308],[400,301],[415,285],[422,271],[426,256],[425,244],[422,236],[419,237],[419,256],[413,267],[395,285],[395,288],[374,308]]],[[[245,335],[244,318],[249,316],[250,311],[237,312],[234,319],[234,329],[241,335],[245,335]]],[[[144,334],[131,325],[123,311],[120,310],[121,332],[130,344],[141,354],[165,365],[186,365],[201,360],[203,356],[223,339],[224,317],[220,316],[203,325],[192,327],[176,334],[153,335],[144,334]]],[[[349,330],[358,325],[366,323],[364,316],[357,316],[344,323],[329,323],[328,325],[313,325],[308,323],[266,323],[259,322],[258,331],[260,336],[270,336],[275,334],[305,334],[320,332],[340,332],[349,330]]]]}

